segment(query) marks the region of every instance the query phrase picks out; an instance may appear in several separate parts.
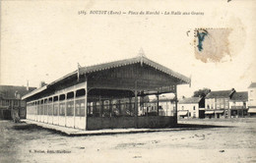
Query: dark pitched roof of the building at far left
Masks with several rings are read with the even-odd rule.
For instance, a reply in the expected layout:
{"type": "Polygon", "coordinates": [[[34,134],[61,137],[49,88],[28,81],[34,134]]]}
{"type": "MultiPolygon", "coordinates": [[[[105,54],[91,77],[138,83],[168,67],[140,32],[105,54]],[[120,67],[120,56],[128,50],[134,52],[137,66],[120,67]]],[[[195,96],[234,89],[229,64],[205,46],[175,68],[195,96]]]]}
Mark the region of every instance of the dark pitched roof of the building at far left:
{"type": "Polygon", "coordinates": [[[3,99],[15,99],[15,94],[20,94],[22,97],[34,89],[36,87],[29,87],[29,90],[27,90],[26,86],[0,85],[0,97],[3,99]]]}

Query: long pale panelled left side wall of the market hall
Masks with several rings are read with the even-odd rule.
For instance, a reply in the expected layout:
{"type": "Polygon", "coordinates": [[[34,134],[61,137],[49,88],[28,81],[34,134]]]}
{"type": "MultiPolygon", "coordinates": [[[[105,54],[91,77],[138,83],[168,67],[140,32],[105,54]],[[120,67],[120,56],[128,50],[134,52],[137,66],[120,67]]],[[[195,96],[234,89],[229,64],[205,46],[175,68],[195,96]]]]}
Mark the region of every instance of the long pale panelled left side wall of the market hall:
{"type": "Polygon", "coordinates": [[[27,118],[37,122],[85,130],[87,93],[87,82],[82,82],[57,90],[49,96],[41,96],[39,99],[28,101],[27,118]],[[80,90],[85,90],[84,94],[80,94],[80,90]],[[73,95],[67,99],[68,94],[73,95]],[[76,96],[76,94],[81,96],[76,96]],[[60,99],[61,96],[64,98],[60,99]],[[55,101],[54,97],[57,97],[55,101]]]}

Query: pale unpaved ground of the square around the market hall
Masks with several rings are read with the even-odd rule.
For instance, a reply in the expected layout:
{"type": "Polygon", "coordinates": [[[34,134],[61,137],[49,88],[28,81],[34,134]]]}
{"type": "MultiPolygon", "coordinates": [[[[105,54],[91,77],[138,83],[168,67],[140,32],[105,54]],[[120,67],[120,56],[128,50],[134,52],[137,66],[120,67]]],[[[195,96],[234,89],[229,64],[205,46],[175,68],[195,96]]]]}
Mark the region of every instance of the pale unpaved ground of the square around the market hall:
{"type": "Polygon", "coordinates": [[[179,123],[185,124],[181,131],[62,136],[0,121],[0,162],[256,162],[255,118],[179,123]]]}

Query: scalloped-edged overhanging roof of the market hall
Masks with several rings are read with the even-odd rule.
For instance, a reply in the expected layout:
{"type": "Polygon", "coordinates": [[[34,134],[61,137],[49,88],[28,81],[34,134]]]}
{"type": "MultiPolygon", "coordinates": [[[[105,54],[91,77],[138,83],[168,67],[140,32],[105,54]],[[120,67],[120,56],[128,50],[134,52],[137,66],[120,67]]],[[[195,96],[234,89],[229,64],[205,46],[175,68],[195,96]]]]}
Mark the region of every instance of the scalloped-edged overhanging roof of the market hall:
{"type": "Polygon", "coordinates": [[[97,65],[88,66],[88,67],[79,67],[78,70],[76,70],[76,71],[56,80],[56,81],[52,81],[43,87],[35,89],[31,93],[23,96],[23,99],[26,99],[40,91],[47,89],[48,86],[56,84],[60,81],[64,81],[65,79],[68,79],[70,77],[87,75],[87,74],[91,74],[91,73],[95,73],[95,72],[99,72],[99,71],[109,70],[112,68],[118,68],[118,67],[123,67],[123,66],[127,66],[127,65],[133,65],[133,64],[148,65],[148,66],[155,68],[156,70],[159,70],[160,72],[162,72],[172,78],[175,78],[175,79],[181,81],[181,83],[190,83],[190,81],[191,81],[189,78],[187,78],[179,73],[176,73],[176,72],[160,65],[159,63],[156,63],[156,62],[148,59],[144,55],[141,55],[141,56],[130,58],[130,59],[118,60],[118,61],[97,64],[97,65]]]}

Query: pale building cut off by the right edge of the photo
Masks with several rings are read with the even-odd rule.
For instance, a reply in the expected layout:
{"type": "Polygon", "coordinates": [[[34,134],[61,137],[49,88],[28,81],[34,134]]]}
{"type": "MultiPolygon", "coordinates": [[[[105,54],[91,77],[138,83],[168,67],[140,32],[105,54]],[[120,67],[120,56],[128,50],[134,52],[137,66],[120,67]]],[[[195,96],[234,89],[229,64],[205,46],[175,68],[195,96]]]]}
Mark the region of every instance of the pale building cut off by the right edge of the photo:
{"type": "Polygon", "coordinates": [[[256,116],[256,82],[251,82],[248,87],[248,115],[256,116]]]}

